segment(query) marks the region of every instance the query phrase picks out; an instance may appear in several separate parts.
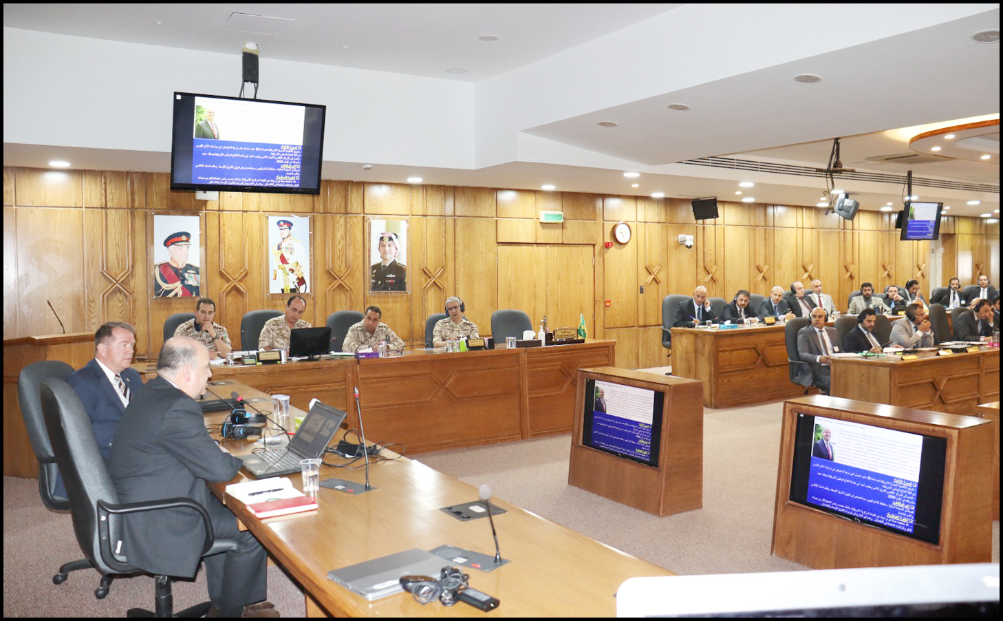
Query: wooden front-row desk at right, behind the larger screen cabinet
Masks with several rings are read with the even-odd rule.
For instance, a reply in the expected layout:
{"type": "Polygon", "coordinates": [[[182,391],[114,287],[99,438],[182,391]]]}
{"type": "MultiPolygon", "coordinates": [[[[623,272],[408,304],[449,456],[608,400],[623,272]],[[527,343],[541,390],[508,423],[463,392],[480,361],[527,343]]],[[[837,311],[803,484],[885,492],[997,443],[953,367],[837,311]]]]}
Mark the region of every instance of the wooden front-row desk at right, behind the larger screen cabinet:
{"type": "Polygon", "coordinates": [[[900,355],[883,358],[832,360],[832,396],[973,415],[979,403],[998,401],[1000,352],[981,347],[974,353],[940,356],[917,352],[919,358],[900,355]]]}

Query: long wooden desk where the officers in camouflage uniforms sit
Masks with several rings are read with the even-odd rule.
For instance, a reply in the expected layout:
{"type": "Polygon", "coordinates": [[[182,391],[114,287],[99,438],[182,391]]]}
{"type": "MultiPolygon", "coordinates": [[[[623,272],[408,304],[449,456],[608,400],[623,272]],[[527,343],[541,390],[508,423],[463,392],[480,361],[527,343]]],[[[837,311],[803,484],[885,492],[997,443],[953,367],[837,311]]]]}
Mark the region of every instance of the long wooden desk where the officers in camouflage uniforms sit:
{"type": "MultiPolygon", "coordinates": [[[[347,411],[355,428],[358,386],[366,439],[399,442],[412,454],[570,431],[578,369],[615,366],[615,345],[595,340],[463,353],[421,349],[388,358],[214,366],[213,379],[289,394],[301,409],[317,397],[347,411]]],[[[135,368],[155,373],[151,364],[135,368]]]]}

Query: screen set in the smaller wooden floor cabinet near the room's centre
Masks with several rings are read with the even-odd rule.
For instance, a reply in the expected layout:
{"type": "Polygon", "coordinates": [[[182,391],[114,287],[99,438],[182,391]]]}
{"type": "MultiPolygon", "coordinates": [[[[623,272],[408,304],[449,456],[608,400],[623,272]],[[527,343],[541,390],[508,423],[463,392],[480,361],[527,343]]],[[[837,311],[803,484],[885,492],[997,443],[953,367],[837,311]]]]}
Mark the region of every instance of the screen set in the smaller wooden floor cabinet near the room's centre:
{"type": "Polygon", "coordinates": [[[664,402],[665,394],[657,390],[589,379],[582,443],[657,467],[664,402]]]}

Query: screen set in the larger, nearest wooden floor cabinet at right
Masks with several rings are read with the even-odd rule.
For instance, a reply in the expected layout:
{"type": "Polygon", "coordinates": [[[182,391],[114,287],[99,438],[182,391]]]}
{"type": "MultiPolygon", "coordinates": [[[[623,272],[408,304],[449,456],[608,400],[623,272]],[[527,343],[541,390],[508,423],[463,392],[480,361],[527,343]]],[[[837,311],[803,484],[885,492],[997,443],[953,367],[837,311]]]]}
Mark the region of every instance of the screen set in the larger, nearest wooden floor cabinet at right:
{"type": "Polygon", "coordinates": [[[940,543],[947,438],[797,415],[790,500],[940,543]]]}

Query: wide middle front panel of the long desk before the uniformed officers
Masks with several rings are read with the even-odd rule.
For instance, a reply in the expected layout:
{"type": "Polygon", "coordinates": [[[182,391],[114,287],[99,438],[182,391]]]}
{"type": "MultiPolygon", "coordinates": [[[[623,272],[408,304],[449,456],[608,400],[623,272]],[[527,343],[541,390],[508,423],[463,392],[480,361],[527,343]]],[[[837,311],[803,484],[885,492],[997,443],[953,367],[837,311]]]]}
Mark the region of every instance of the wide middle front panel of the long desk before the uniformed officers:
{"type": "Polygon", "coordinates": [[[525,437],[521,359],[503,349],[360,360],[366,439],[410,454],[525,437]]]}

